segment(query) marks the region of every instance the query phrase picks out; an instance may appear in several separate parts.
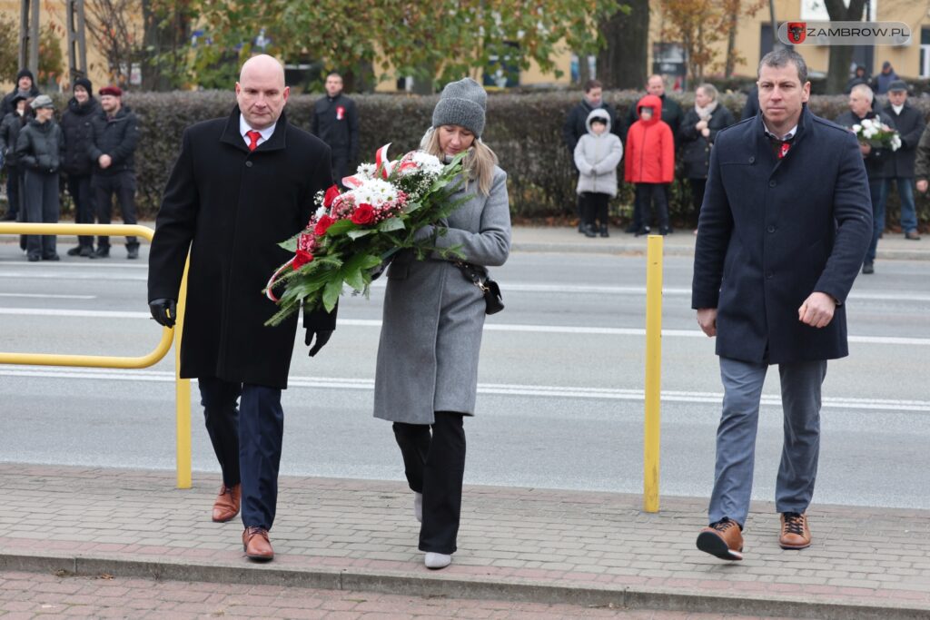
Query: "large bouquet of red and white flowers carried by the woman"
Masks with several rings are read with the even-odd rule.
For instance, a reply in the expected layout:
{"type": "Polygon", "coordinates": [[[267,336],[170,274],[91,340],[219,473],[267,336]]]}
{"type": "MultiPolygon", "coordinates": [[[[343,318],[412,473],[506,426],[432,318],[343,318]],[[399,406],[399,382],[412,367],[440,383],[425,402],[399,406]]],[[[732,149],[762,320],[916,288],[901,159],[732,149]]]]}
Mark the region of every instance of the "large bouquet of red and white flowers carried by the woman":
{"type": "MultiPolygon", "coordinates": [[[[395,252],[411,248],[419,257],[436,251],[443,257],[460,257],[457,248],[436,248],[434,237],[417,235],[429,225],[441,224],[468,196],[450,200],[462,182],[462,158],[449,164],[421,151],[389,161],[390,144],[381,147],[375,164],[358,166],[358,172],[316,196],[319,208],[307,228],[279,244],[294,257],[276,270],[265,295],[280,307],[267,324],[276,325],[301,306],[331,311],[342,285],[368,294],[373,270],[395,252]],[[280,297],[275,290],[284,287],[280,297]]],[[[445,230],[437,227],[438,233],[445,230]]]]}

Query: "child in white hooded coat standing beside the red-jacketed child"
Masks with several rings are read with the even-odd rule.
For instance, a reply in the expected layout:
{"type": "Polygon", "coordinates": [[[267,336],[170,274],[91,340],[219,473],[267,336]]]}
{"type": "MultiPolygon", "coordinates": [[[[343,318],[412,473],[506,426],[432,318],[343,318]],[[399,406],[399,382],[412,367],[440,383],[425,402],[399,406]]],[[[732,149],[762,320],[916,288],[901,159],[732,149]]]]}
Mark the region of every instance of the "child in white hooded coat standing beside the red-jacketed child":
{"type": "Polygon", "coordinates": [[[596,237],[598,231],[602,237],[609,237],[607,203],[617,195],[617,166],[623,158],[623,143],[610,133],[610,115],[601,108],[591,110],[585,125],[588,133],[578,139],[575,147],[583,231],[586,237],[596,237]]]}

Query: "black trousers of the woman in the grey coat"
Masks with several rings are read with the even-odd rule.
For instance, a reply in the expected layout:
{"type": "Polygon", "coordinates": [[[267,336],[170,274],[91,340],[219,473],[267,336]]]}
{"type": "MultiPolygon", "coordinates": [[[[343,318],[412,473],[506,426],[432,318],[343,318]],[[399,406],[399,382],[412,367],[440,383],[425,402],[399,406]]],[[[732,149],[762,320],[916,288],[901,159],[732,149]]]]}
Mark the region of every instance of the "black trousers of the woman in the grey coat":
{"type": "Polygon", "coordinates": [[[432,425],[394,422],[394,438],[404,457],[410,488],[423,494],[419,550],[451,555],[456,551],[465,476],[462,414],[437,411],[432,425]]]}

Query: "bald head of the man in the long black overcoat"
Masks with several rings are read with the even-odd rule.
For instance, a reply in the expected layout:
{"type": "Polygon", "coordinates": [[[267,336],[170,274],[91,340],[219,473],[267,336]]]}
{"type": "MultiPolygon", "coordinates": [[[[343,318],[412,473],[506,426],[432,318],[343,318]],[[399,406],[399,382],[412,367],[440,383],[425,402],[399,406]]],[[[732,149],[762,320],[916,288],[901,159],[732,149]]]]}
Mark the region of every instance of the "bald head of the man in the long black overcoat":
{"type": "Polygon", "coordinates": [[[290,89],[285,86],[285,69],[272,56],[260,54],[247,59],[235,84],[235,97],[246,123],[264,129],[277,123],[290,89]]]}

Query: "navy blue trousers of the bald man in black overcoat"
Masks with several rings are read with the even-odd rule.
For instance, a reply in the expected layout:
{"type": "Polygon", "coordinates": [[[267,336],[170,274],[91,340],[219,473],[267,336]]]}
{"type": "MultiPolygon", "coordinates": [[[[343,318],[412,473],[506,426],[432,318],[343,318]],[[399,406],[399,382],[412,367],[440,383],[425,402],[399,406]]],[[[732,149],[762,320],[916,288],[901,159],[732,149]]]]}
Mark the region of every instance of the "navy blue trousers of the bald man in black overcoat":
{"type": "Polygon", "coordinates": [[[197,383],[223,484],[242,482],[243,524],[271,530],[285,429],[281,390],[214,376],[202,376],[197,383]],[[237,400],[241,400],[238,407],[237,400]]]}

